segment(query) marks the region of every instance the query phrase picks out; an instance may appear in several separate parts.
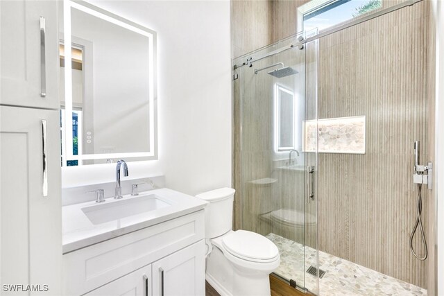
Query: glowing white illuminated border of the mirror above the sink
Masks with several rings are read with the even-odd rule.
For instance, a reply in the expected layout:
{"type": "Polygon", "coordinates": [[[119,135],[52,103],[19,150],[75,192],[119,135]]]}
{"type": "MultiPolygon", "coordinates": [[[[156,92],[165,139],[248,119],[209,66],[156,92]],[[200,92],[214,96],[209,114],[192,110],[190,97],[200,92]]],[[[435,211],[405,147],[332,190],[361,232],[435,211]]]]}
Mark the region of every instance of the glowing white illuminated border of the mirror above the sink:
{"type": "MultiPolygon", "coordinates": [[[[83,11],[94,17],[99,17],[112,24],[127,28],[130,31],[139,33],[148,37],[149,40],[149,63],[152,65],[149,71],[149,151],[137,153],[101,153],[101,154],[85,154],[73,155],[73,134],[71,116],[65,116],[65,155],[62,155],[63,161],[78,160],[78,166],[82,166],[83,160],[92,159],[115,159],[115,158],[133,158],[142,157],[143,160],[157,159],[157,35],[156,32],[144,26],[136,24],[133,21],[114,15],[112,12],[103,10],[97,6],[80,0],[64,0],[63,1],[63,35],[65,44],[72,44],[71,40],[71,9],[83,11]]],[[[65,60],[71,60],[71,51],[65,50],[65,60]]],[[[71,62],[65,62],[65,114],[71,114],[72,106],[72,76],[71,62]]],[[[131,159],[129,159],[131,160],[131,159]]],[[[140,160],[140,159],[138,159],[140,160]]],[[[76,167],[76,166],[74,166],[76,167]]]]}

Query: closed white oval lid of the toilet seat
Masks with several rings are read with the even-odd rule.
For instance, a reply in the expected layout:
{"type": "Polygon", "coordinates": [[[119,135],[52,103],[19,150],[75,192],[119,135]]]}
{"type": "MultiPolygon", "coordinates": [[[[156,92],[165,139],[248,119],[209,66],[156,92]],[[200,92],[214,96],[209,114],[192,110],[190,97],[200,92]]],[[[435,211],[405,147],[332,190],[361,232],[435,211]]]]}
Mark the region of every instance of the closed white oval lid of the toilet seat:
{"type": "Polygon", "coordinates": [[[246,230],[237,230],[225,236],[222,244],[230,254],[246,260],[267,260],[279,255],[278,247],[272,241],[246,230]]]}

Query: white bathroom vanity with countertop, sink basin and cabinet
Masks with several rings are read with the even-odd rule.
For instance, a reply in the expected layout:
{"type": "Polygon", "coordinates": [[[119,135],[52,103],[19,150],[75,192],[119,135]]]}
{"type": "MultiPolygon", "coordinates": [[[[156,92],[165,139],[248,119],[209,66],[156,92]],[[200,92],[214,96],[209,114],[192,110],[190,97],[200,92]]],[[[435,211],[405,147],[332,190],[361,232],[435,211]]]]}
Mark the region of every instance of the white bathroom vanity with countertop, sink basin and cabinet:
{"type": "Polygon", "coordinates": [[[63,207],[64,295],[205,295],[205,205],[156,189],[63,207]]]}

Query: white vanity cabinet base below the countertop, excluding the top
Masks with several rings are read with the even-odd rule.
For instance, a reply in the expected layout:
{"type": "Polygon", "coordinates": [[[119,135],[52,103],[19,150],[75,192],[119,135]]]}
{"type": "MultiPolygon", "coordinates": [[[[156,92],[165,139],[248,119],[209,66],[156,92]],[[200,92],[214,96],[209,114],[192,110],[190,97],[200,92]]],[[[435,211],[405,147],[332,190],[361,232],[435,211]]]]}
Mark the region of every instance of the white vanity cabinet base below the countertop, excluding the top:
{"type": "Polygon", "coordinates": [[[200,209],[64,254],[63,294],[205,295],[204,224],[200,209]]]}

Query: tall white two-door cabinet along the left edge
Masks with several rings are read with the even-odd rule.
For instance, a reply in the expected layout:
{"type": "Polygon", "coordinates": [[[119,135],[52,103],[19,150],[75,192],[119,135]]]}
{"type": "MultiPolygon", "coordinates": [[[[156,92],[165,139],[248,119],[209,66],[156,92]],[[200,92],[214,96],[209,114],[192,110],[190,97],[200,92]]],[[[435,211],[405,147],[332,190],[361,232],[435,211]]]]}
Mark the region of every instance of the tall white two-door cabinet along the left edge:
{"type": "Polygon", "coordinates": [[[57,2],[0,1],[1,295],[61,292],[57,2]]]}

